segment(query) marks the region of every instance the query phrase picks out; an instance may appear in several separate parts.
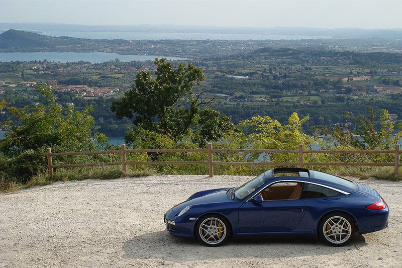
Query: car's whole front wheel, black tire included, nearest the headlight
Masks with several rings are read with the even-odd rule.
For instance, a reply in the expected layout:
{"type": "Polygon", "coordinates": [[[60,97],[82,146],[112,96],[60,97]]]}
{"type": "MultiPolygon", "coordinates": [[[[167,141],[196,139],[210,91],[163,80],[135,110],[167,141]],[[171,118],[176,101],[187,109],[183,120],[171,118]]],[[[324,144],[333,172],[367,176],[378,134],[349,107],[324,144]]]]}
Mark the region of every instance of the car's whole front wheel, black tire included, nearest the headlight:
{"type": "Polygon", "coordinates": [[[206,246],[225,244],[232,233],[228,220],[219,214],[200,217],[195,224],[195,237],[206,246]]]}

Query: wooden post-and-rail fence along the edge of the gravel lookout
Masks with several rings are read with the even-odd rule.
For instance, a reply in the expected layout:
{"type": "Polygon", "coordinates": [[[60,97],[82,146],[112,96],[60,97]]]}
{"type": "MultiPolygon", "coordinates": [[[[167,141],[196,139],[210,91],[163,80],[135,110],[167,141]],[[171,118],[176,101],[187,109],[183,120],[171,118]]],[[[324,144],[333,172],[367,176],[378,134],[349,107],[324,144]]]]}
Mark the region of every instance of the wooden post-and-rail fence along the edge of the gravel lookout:
{"type": "Polygon", "coordinates": [[[209,166],[210,177],[214,176],[214,165],[259,165],[259,166],[298,166],[304,167],[324,165],[324,166],[394,166],[394,175],[399,172],[400,146],[395,144],[394,150],[305,150],[303,144],[298,146],[298,150],[270,150],[270,149],[213,149],[212,143],[208,143],[207,149],[126,149],[126,145],[122,144],[120,150],[109,151],[93,151],[93,152],[59,152],[53,153],[50,148],[46,149],[49,174],[53,176],[53,168],[58,167],[80,167],[80,166],[100,166],[100,165],[122,165],[123,174],[127,172],[127,165],[161,165],[161,164],[175,164],[175,165],[187,165],[187,164],[205,164],[209,166]],[[127,161],[126,153],[168,153],[168,152],[208,152],[208,161],[127,161]],[[298,162],[293,163],[273,163],[273,162],[221,162],[213,160],[214,152],[245,152],[245,153],[298,153],[298,162]],[[106,153],[119,153],[122,155],[122,161],[120,162],[103,162],[103,163],[89,163],[89,164],[63,164],[54,165],[52,156],[60,155],[90,155],[90,154],[106,154],[106,153]],[[356,162],[305,162],[305,153],[392,153],[394,154],[394,161],[389,163],[356,163],[356,162]]]}

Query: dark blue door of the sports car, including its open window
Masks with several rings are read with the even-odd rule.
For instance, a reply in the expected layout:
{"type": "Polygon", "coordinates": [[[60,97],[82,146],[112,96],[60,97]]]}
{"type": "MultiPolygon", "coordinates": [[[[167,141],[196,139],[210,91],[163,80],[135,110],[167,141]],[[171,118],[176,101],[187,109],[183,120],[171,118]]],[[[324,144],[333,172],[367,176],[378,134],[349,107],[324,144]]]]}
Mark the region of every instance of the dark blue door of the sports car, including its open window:
{"type": "Polygon", "coordinates": [[[299,199],[302,189],[302,183],[294,182],[279,182],[265,188],[259,193],[263,196],[261,203],[250,200],[239,208],[239,231],[264,233],[293,230],[306,211],[306,203],[299,199]],[[297,190],[299,192],[295,193],[297,190]]]}

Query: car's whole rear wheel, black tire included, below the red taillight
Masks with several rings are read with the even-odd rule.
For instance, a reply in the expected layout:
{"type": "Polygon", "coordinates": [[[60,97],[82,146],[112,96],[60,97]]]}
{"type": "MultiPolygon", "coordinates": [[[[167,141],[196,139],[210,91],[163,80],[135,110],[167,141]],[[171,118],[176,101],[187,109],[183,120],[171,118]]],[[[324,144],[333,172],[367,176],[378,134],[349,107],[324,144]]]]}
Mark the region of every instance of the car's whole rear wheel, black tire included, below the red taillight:
{"type": "Polygon", "coordinates": [[[346,213],[329,213],[320,220],[317,233],[327,244],[343,246],[352,240],[355,233],[355,222],[346,213]]]}

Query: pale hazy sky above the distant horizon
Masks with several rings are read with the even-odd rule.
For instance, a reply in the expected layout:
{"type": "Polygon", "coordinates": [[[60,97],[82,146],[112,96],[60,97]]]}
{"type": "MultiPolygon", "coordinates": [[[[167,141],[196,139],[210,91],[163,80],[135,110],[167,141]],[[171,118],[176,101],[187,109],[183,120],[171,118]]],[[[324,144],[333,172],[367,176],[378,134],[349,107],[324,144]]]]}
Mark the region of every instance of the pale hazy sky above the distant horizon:
{"type": "Polygon", "coordinates": [[[0,22],[402,28],[402,1],[3,1],[0,22]]]}

